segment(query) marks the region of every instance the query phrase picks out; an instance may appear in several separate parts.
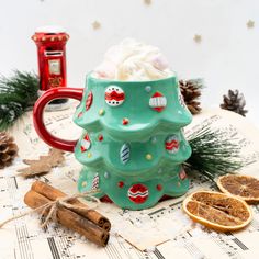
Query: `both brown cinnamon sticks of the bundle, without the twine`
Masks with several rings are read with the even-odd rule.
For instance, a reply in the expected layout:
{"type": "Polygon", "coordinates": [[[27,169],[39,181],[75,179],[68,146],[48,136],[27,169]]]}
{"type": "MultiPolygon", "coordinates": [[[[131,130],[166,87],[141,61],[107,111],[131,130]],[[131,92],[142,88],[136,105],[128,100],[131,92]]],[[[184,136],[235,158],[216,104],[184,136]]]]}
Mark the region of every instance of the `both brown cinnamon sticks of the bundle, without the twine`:
{"type": "MultiPolygon", "coordinates": [[[[37,209],[52,201],[67,196],[60,190],[53,188],[42,181],[32,184],[31,190],[24,196],[24,203],[37,209]]],[[[69,201],[71,207],[58,206],[56,211],[57,222],[67,228],[79,233],[87,239],[100,246],[106,246],[109,241],[110,221],[94,210],[82,210],[88,206],[77,199],[69,201]]],[[[40,213],[43,213],[40,211],[40,213]]],[[[48,212],[44,212],[47,214],[48,212]]]]}

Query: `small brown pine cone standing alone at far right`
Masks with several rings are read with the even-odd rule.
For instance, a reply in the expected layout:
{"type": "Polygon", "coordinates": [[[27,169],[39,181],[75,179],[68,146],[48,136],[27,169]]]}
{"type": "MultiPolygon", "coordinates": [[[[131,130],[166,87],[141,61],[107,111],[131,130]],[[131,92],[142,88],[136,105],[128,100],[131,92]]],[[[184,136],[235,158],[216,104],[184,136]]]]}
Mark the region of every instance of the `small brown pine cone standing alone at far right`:
{"type": "Polygon", "coordinates": [[[246,116],[248,111],[244,110],[246,100],[243,93],[239,93],[238,90],[228,90],[228,95],[223,95],[221,108],[246,116]]]}

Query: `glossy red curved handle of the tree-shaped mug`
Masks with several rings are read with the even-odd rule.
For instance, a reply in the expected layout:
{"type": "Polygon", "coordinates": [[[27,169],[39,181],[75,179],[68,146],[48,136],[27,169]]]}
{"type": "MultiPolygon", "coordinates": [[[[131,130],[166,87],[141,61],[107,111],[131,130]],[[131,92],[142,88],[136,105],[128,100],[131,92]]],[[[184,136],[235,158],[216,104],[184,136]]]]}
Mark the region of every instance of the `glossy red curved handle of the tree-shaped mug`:
{"type": "Polygon", "coordinates": [[[38,98],[33,109],[33,123],[38,136],[46,144],[65,151],[74,151],[78,140],[66,140],[53,136],[45,127],[43,112],[46,104],[53,99],[71,98],[81,101],[82,93],[82,88],[53,88],[47,90],[41,98],[38,98]]]}

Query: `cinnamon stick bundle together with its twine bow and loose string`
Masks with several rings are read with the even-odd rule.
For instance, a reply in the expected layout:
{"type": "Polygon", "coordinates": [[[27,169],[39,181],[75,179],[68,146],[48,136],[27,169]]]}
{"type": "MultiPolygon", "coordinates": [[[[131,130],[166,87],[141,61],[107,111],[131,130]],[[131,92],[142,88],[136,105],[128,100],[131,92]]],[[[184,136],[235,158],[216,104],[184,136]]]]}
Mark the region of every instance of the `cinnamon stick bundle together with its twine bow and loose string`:
{"type": "MultiPolygon", "coordinates": [[[[109,232],[104,226],[100,227],[95,222],[93,223],[92,221],[89,221],[90,216],[88,214],[92,214],[92,216],[95,214],[95,219],[100,216],[102,218],[105,217],[93,210],[97,205],[90,207],[77,200],[77,198],[86,198],[87,200],[94,201],[95,204],[99,204],[99,200],[92,196],[94,192],[95,191],[91,191],[83,194],[67,196],[60,190],[45,184],[44,182],[36,181],[32,184],[31,190],[24,196],[24,203],[34,210],[21,214],[16,218],[23,217],[32,212],[37,212],[41,214],[41,217],[43,217],[43,224],[41,225],[42,228],[47,226],[49,219],[53,219],[65,227],[79,233],[88,240],[105,247],[110,237],[109,232]]],[[[7,224],[14,218],[15,217],[12,217],[3,224],[7,224]]],[[[108,218],[106,223],[110,223],[108,218]]]]}

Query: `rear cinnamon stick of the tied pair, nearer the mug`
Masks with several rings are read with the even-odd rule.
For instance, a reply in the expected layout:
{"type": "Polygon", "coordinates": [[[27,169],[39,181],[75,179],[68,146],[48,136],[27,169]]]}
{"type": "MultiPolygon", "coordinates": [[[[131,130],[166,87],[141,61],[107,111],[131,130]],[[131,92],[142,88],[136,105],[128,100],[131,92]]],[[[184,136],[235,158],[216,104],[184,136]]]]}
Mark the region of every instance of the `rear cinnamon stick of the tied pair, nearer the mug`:
{"type": "MultiPolygon", "coordinates": [[[[48,198],[52,201],[55,201],[58,198],[64,198],[67,195],[66,193],[61,192],[60,190],[58,190],[54,187],[50,187],[42,181],[35,181],[32,184],[31,189],[34,190],[35,192],[48,198]]],[[[88,207],[85,203],[78,201],[77,199],[75,199],[74,201],[70,201],[69,203],[71,203],[72,205],[88,207]]],[[[97,211],[89,210],[86,212],[80,209],[71,209],[71,211],[74,211],[74,212],[78,213],[79,215],[86,217],[87,219],[95,223],[98,226],[102,227],[103,229],[105,229],[108,232],[111,229],[110,221],[97,211]]]]}

